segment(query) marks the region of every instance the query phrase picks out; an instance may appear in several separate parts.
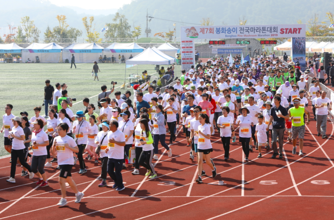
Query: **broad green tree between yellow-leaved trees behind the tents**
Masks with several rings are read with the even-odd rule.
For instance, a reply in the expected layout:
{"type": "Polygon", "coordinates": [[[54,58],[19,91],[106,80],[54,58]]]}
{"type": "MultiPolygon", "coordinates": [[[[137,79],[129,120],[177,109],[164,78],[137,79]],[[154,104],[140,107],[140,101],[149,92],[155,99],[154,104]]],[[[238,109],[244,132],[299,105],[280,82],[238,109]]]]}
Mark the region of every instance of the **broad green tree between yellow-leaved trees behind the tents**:
{"type": "MultiPolygon", "coordinates": [[[[105,33],[106,38],[130,38],[133,37],[133,34],[130,32],[131,25],[128,23],[128,20],[125,18],[125,15],[115,14],[115,17],[112,19],[114,23],[108,23],[106,26],[108,30],[105,33]]],[[[140,26],[139,26],[140,27],[140,26]]],[[[135,28],[135,31],[138,30],[135,28]]],[[[140,29],[141,31],[141,29],[140,29]]],[[[140,35],[140,34],[139,34],[140,35]]]]}

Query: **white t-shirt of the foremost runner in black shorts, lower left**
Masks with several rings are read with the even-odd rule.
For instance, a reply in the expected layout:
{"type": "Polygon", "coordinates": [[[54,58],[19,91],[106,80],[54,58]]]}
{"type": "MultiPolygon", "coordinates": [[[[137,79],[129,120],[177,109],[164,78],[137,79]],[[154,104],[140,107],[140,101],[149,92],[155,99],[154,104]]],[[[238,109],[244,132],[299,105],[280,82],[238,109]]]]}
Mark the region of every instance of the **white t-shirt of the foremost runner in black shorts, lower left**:
{"type": "Polygon", "coordinates": [[[57,151],[57,163],[58,165],[74,165],[73,160],[73,151],[65,147],[65,144],[68,144],[70,147],[76,147],[74,139],[65,135],[65,137],[57,136],[54,139],[56,143],[56,151],[57,151]]]}

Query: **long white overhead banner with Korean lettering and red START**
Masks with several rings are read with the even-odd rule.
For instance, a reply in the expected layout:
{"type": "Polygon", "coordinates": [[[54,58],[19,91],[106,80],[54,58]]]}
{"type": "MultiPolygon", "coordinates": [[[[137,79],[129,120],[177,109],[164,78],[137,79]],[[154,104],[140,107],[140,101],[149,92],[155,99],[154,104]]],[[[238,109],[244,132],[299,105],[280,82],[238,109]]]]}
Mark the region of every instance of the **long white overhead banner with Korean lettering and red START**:
{"type": "Polygon", "coordinates": [[[306,24],[181,26],[184,39],[305,37],[306,24]]]}

